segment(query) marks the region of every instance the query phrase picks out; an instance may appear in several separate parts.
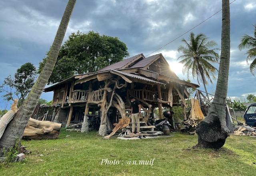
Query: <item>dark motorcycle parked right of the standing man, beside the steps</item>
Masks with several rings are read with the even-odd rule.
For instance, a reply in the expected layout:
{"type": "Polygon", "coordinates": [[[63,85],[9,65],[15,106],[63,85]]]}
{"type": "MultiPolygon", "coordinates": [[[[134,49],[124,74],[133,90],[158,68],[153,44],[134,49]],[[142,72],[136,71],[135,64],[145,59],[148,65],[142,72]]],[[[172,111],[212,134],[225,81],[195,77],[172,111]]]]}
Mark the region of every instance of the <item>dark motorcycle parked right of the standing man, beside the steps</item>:
{"type": "Polygon", "coordinates": [[[172,125],[169,123],[168,120],[171,120],[172,119],[172,115],[174,114],[173,111],[169,112],[169,111],[165,111],[163,113],[164,115],[164,119],[159,119],[159,120],[156,120],[154,121],[154,117],[152,115],[152,113],[150,113],[150,116],[148,118],[148,125],[154,125],[155,128],[154,130],[155,131],[163,131],[164,127],[167,126],[169,129],[170,129],[170,132],[172,132],[172,125]]]}

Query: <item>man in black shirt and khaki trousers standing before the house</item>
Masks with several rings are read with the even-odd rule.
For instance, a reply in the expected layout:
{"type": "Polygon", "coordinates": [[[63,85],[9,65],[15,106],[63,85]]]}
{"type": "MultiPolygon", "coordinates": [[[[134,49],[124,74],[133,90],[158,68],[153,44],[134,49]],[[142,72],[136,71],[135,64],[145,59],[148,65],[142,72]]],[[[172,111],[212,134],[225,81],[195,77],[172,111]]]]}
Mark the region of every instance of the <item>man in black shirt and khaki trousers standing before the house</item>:
{"type": "Polygon", "coordinates": [[[132,110],[131,110],[131,117],[132,117],[132,133],[134,134],[135,131],[135,122],[137,124],[137,133],[140,132],[140,102],[139,100],[135,100],[135,98],[130,97],[130,101],[132,102],[132,110]]]}

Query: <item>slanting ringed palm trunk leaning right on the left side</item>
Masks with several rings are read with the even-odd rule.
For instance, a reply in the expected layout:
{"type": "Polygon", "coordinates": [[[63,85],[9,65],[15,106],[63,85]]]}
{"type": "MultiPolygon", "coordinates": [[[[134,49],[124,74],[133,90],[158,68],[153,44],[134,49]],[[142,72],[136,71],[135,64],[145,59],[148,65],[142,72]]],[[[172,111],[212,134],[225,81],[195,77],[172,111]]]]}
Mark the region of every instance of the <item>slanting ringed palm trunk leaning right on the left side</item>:
{"type": "Polygon", "coordinates": [[[0,139],[0,156],[3,155],[3,148],[9,149],[15,145],[16,139],[22,139],[24,129],[28,124],[29,118],[34,111],[34,108],[36,107],[36,104],[48,82],[50,75],[52,74],[52,70],[56,63],[58,53],[60,51],[60,47],[64,39],[75,4],[76,0],[68,1],[58,31],[52,43],[48,58],[46,60],[46,64],[44,65],[42,72],[39,74],[38,79],[36,80],[26,100],[24,100],[22,107],[13,117],[13,120],[10,121],[6,130],[4,131],[2,138],[0,139]]]}

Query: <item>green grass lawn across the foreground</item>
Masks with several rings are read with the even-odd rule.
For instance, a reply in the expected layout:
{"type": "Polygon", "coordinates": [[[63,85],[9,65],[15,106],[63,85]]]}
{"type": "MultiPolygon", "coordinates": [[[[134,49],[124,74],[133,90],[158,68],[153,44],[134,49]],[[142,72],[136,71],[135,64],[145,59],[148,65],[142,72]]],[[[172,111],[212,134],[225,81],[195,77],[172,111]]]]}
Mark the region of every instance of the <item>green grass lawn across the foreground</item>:
{"type": "Polygon", "coordinates": [[[103,140],[96,132],[61,131],[56,140],[22,141],[32,151],[23,163],[0,164],[1,176],[253,176],[256,138],[228,137],[222,149],[191,149],[197,136],[174,133],[158,139],[103,140]],[[66,137],[66,135],[70,135],[66,137]],[[39,156],[43,154],[44,156],[39,156]],[[112,155],[112,156],[111,156],[112,155]],[[119,160],[105,165],[102,159],[119,160]],[[154,159],[151,165],[139,160],[154,159]],[[127,165],[136,160],[137,165],[127,165]]]}

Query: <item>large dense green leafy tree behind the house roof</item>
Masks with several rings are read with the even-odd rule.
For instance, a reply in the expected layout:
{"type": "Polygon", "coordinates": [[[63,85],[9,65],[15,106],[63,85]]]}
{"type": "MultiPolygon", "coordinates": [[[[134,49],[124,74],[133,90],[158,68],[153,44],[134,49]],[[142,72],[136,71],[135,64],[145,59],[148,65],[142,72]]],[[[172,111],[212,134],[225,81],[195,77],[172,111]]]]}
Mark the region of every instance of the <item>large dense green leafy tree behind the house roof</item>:
{"type": "MultiPolygon", "coordinates": [[[[48,84],[60,82],[75,74],[97,71],[122,61],[127,56],[129,53],[126,44],[118,37],[100,35],[94,31],[71,33],[60,49],[48,84]]],[[[41,72],[45,61],[46,58],[40,62],[39,72],[41,72]]]]}

